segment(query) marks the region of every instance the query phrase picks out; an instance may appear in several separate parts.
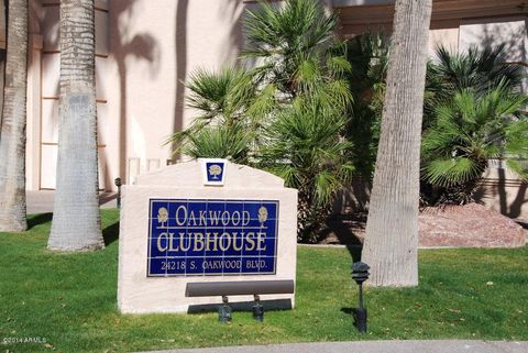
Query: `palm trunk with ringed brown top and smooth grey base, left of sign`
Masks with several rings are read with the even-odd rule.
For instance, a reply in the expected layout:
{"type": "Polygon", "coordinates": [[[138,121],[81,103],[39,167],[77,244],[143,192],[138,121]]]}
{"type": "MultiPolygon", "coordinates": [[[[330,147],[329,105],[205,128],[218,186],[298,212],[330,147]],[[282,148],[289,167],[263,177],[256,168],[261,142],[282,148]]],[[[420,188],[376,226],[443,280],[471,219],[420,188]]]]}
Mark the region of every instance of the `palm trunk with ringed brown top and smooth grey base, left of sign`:
{"type": "Polygon", "coordinates": [[[57,187],[48,247],[105,247],[98,200],[94,0],[61,1],[57,187]]]}

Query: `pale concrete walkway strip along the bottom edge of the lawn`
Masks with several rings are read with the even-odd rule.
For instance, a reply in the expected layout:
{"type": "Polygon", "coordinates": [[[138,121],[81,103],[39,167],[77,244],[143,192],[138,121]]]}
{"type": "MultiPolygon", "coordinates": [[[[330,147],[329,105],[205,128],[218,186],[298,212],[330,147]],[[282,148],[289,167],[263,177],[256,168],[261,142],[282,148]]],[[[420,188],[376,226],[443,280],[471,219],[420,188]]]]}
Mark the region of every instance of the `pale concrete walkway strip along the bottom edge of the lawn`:
{"type": "Polygon", "coordinates": [[[527,353],[528,342],[361,341],[226,346],[143,353],[527,353]]]}

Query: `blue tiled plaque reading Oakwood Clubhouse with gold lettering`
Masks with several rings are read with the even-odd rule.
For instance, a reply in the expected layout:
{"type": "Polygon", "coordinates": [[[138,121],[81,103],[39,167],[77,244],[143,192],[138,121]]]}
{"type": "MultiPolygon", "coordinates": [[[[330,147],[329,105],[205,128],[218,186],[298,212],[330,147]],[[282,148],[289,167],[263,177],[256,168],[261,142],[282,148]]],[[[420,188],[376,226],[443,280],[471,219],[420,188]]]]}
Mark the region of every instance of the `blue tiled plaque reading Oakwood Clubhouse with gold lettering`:
{"type": "Polygon", "coordinates": [[[147,276],[273,275],[278,201],[151,199],[147,276]]]}

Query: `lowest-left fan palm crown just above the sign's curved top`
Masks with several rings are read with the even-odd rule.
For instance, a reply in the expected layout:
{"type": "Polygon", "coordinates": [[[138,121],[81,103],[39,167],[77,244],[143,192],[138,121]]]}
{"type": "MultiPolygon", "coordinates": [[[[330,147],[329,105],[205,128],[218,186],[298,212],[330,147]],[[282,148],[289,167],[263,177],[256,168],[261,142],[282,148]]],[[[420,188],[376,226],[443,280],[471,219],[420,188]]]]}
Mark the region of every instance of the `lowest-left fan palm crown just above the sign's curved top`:
{"type": "Polygon", "coordinates": [[[190,92],[187,107],[198,113],[188,129],[168,139],[176,147],[174,153],[246,164],[260,126],[258,120],[248,114],[255,93],[248,73],[234,67],[218,73],[198,69],[186,87],[190,92]]]}

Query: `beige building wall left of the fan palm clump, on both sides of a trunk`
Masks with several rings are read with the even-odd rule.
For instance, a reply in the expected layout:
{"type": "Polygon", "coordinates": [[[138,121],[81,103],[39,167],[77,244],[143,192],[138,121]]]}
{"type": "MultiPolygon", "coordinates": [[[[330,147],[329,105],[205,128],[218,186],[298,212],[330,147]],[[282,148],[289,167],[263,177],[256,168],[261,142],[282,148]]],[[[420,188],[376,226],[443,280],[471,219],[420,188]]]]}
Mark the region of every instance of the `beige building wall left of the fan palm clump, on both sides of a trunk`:
{"type": "MultiPolygon", "coordinates": [[[[28,188],[55,188],[58,137],[58,0],[31,0],[28,188]]],[[[167,137],[187,126],[183,82],[198,67],[233,63],[238,0],[96,0],[100,188],[172,163],[167,137]]]]}

